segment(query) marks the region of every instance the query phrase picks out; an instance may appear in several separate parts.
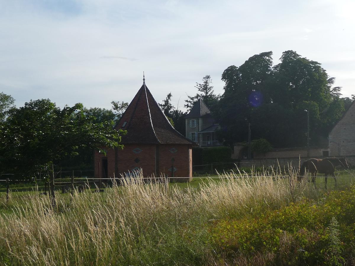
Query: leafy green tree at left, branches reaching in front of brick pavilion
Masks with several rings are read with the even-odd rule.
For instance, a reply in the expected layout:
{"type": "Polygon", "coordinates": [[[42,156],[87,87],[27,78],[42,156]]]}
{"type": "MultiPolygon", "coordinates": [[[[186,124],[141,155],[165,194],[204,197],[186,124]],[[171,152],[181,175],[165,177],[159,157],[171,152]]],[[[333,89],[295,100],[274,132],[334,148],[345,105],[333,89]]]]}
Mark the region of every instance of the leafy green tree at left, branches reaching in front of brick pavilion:
{"type": "Polygon", "coordinates": [[[33,175],[50,164],[60,165],[66,156],[75,156],[83,148],[123,148],[113,121],[96,123],[85,115],[82,104],[62,110],[49,99],[26,102],[13,108],[1,124],[0,153],[2,166],[33,175]]]}

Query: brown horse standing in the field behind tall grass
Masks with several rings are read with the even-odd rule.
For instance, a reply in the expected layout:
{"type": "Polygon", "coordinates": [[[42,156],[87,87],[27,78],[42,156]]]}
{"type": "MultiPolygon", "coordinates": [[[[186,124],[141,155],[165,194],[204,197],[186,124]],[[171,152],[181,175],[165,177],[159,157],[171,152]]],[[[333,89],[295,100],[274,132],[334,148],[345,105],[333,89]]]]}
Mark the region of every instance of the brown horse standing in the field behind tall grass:
{"type": "Polygon", "coordinates": [[[332,177],[334,177],[335,180],[335,187],[337,186],[337,179],[334,176],[334,171],[335,171],[335,166],[341,165],[345,169],[349,169],[349,164],[346,161],[345,157],[344,158],[336,158],[336,157],[331,157],[331,158],[324,158],[324,159],[315,159],[311,158],[307,161],[305,161],[300,169],[300,176],[305,175],[305,170],[311,173],[312,176],[312,182],[315,187],[316,186],[316,175],[317,173],[324,174],[325,176],[325,181],[326,181],[326,188],[327,188],[327,179],[328,179],[328,174],[331,174],[332,177]]]}

